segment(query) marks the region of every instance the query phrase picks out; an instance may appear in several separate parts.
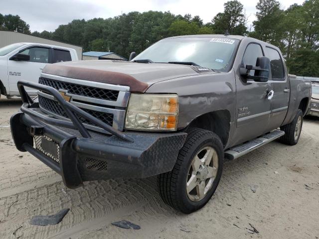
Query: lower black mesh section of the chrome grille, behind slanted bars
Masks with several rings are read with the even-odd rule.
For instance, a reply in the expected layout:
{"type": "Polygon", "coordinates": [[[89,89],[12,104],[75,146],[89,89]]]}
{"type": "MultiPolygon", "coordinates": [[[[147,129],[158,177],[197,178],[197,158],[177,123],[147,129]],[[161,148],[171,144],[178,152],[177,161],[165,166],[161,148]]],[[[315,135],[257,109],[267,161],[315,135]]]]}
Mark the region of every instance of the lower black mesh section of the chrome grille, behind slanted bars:
{"type": "MultiPolygon", "coordinates": [[[[47,99],[47,98],[39,95],[39,105],[41,106],[42,109],[47,110],[55,115],[58,115],[58,116],[61,116],[64,118],[68,118],[67,114],[62,109],[62,107],[54,100],[50,100],[50,99],[47,99]]],[[[95,118],[100,119],[103,122],[105,122],[111,126],[113,125],[113,114],[99,112],[99,111],[93,111],[93,110],[88,110],[88,109],[81,109],[81,110],[89,113],[90,115],[94,116],[95,118]]],[[[93,124],[91,121],[84,119],[81,116],[78,116],[78,117],[83,123],[86,123],[86,124],[92,125],[92,126],[97,126],[97,125],[93,124]]]]}

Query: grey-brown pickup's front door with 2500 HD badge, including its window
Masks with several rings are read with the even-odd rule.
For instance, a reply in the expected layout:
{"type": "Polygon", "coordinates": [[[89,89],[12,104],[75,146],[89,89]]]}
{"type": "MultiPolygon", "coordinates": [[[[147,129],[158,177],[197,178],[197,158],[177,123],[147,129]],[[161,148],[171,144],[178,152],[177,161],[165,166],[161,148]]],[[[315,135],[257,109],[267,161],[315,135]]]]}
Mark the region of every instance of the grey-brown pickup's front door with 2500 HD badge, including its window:
{"type": "MultiPolygon", "coordinates": [[[[264,56],[262,46],[249,43],[242,58],[242,66],[256,65],[257,57],[264,56]]],[[[250,75],[254,75],[254,70],[250,75]]],[[[232,145],[251,140],[268,130],[271,101],[268,93],[272,85],[268,82],[247,81],[236,75],[236,128],[232,145]]]]}

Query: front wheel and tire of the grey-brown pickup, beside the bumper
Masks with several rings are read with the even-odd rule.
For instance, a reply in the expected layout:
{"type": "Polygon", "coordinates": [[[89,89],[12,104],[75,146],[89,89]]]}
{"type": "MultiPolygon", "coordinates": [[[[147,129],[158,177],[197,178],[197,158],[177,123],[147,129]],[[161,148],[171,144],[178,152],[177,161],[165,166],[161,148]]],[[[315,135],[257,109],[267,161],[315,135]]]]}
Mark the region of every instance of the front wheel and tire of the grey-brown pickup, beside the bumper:
{"type": "Polygon", "coordinates": [[[224,160],[223,144],[215,133],[200,128],[190,128],[187,133],[173,169],[158,176],[163,201],[185,214],[202,208],[213,196],[224,160]],[[195,159],[195,156],[198,157],[195,159]]]}

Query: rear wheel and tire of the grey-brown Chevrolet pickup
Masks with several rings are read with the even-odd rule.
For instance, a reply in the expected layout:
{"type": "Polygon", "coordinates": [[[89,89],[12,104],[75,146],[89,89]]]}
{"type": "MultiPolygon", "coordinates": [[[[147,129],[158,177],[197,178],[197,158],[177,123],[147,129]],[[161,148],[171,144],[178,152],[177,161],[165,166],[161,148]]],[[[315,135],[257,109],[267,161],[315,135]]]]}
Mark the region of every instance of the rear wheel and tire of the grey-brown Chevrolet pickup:
{"type": "Polygon", "coordinates": [[[281,126],[280,129],[285,131],[285,135],[281,136],[279,141],[288,145],[295,145],[298,143],[301,130],[303,127],[303,112],[298,110],[294,120],[281,126]]]}

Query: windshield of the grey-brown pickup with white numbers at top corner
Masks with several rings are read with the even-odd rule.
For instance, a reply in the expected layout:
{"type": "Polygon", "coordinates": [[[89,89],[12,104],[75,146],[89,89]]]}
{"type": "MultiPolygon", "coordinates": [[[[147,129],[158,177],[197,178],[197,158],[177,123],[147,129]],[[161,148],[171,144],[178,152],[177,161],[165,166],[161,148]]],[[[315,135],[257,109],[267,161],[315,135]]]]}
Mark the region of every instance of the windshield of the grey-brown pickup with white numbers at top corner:
{"type": "Polygon", "coordinates": [[[193,62],[217,71],[229,71],[239,40],[226,37],[177,37],[160,40],[134,60],[155,63],[193,62]]]}

